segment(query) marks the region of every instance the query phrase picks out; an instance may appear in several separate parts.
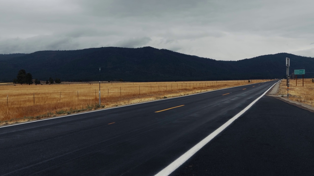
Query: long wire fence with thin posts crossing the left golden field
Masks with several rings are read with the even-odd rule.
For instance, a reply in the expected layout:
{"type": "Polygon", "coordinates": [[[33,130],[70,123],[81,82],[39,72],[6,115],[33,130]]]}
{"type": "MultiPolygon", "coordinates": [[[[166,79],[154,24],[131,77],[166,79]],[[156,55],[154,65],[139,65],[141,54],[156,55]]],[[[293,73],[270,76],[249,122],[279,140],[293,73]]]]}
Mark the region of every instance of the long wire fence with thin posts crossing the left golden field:
{"type": "MultiPolygon", "coordinates": [[[[200,81],[200,82],[156,82],[156,83],[113,83],[101,84],[100,98],[119,96],[136,96],[156,92],[202,89],[219,85],[237,85],[247,83],[247,80],[236,81],[200,81]]],[[[91,85],[91,84],[89,84],[91,85]]],[[[94,84],[95,85],[95,84],[94,84]]],[[[93,87],[95,88],[95,86],[93,87]]],[[[68,101],[99,101],[99,89],[90,91],[55,91],[47,93],[28,93],[3,95],[0,93],[0,107],[32,106],[68,101]]]]}

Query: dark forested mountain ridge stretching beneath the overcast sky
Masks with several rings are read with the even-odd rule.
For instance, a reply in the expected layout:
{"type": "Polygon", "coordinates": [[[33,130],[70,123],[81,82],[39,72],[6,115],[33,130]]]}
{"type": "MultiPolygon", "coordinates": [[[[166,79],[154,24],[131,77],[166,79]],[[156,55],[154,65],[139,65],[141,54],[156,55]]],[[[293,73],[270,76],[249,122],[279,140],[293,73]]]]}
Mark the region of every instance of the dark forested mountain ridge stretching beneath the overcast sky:
{"type": "MultiPolygon", "coordinates": [[[[167,49],[102,47],[70,51],[0,54],[0,81],[12,82],[20,69],[33,78],[62,81],[182,81],[284,78],[285,58],[294,69],[314,72],[314,58],[279,53],[239,61],[219,61],[167,49]],[[99,67],[101,70],[99,71],[99,67]]],[[[306,73],[305,77],[313,77],[306,73]]]]}

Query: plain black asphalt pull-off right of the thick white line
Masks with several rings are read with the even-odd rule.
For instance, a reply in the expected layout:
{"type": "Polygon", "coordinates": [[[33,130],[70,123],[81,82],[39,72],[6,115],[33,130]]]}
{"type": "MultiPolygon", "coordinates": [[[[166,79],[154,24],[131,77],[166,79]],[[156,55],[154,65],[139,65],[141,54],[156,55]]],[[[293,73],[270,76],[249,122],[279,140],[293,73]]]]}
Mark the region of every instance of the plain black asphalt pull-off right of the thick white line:
{"type": "Polygon", "coordinates": [[[263,96],[171,175],[314,175],[314,113],[263,96]]]}

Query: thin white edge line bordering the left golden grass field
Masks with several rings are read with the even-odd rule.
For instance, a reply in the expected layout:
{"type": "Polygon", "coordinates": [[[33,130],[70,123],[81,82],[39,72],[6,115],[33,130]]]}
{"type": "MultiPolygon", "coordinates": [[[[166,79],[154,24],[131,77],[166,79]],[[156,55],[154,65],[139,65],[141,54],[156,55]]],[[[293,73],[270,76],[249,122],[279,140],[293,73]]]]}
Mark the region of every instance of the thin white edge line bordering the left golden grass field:
{"type": "MultiPolygon", "coordinates": [[[[268,82],[268,81],[265,81],[265,82],[268,82]]],[[[260,82],[260,83],[262,83],[262,82],[260,82]]],[[[257,84],[257,83],[252,83],[252,84],[257,84]]],[[[250,85],[250,84],[247,84],[247,85],[250,85]]],[[[235,86],[235,87],[241,87],[241,86],[245,86],[245,85],[239,85],[239,86],[235,86]]],[[[224,89],[230,89],[230,88],[234,88],[234,87],[228,87],[228,88],[224,88],[224,89]]],[[[217,89],[217,90],[213,90],[213,91],[220,91],[220,90],[224,90],[224,89],[217,89]]],[[[199,93],[196,93],[196,94],[190,94],[190,95],[184,95],[184,96],[203,94],[203,93],[208,93],[208,92],[213,92],[213,91],[199,92],[199,93]]],[[[183,96],[177,96],[177,97],[172,97],[172,98],[179,98],[179,97],[183,97],[183,96]]],[[[146,101],[146,102],[142,102],[142,103],[149,103],[149,102],[154,102],[154,101],[162,101],[162,100],[168,100],[168,99],[172,99],[172,98],[165,98],[165,99],[160,99],[160,100],[146,101]]],[[[114,109],[114,108],[125,107],[125,106],[132,106],[132,105],[138,105],[138,104],[142,104],[142,103],[135,103],[135,104],[131,104],[131,105],[111,107],[111,108],[100,109],[100,110],[95,110],[95,111],[88,111],[88,112],[82,112],[82,113],[76,113],[76,114],[71,114],[71,115],[66,115],[66,116],[59,116],[59,117],[46,118],[46,119],[41,119],[41,120],[34,120],[34,121],[31,121],[31,122],[22,122],[22,123],[2,126],[0,128],[11,127],[11,126],[14,126],[14,125],[21,125],[21,124],[32,123],[32,122],[39,122],[39,121],[43,121],[43,120],[56,119],[56,118],[61,118],[61,117],[75,116],[75,115],[78,115],[78,114],[85,114],[85,113],[96,112],[96,111],[104,111],[104,110],[108,110],[108,109],[114,109]]]]}

